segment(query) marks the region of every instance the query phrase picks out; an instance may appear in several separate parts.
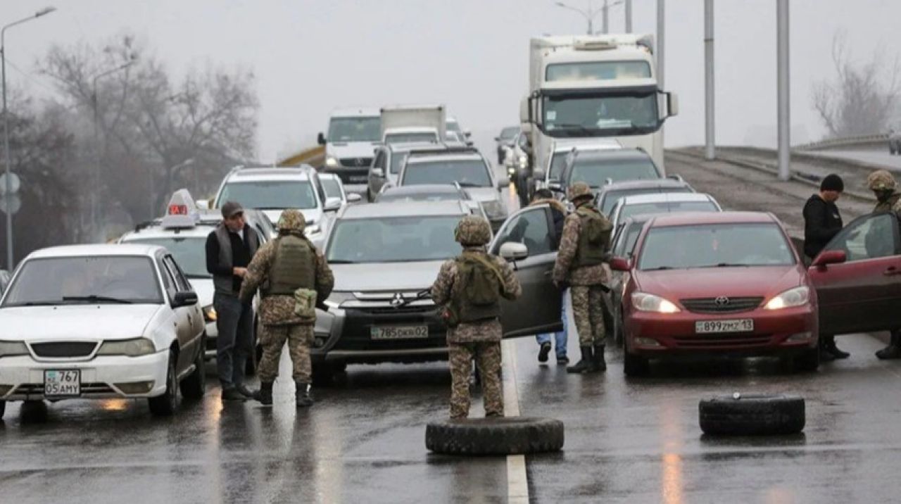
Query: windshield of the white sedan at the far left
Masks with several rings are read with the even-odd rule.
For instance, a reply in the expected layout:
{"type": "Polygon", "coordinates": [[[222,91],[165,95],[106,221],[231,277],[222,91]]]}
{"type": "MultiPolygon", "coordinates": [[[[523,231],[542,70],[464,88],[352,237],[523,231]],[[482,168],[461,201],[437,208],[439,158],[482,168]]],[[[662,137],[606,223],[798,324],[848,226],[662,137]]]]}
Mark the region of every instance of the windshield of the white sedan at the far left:
{"type": "Polygon", "coordinates": [[[162,302],[149,257],[101,255],[25,261],[3,307],[162,302]]]}

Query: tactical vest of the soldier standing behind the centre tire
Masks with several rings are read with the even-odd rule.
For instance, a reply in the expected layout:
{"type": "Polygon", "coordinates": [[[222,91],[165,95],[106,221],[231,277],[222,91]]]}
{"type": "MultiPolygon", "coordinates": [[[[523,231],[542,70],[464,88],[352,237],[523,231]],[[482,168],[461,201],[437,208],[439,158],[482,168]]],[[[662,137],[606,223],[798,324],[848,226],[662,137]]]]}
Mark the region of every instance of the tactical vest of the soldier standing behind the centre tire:
{"type": "Polygon", "coordinates": [[[484,253],[463,252],[455,259],[460,298],[455,300],[460,323],[485,321],[501,315],[501,273],[484,253]]]}

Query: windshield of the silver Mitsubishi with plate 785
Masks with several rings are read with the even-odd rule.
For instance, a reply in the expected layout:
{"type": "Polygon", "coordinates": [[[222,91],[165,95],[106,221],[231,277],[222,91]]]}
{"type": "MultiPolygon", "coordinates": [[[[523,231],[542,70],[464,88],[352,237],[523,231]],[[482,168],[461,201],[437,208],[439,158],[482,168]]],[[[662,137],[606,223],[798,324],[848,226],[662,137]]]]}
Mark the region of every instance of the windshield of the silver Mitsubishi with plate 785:
{"type": "Polygon", "coordinates": [[[462,215],[382,217],[338,221],[326,256],[333,264],[444,261],[460,253],[454,229],[462,215]]]}

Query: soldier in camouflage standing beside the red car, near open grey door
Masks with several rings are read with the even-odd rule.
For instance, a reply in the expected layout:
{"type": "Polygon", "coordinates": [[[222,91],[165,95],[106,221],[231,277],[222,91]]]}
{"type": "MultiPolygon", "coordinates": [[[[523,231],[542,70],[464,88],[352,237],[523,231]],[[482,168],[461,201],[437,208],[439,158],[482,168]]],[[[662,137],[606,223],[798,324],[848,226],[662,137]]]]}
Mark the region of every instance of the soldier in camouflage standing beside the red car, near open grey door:
{"type": "Polygon", "coordinates": [[[610,248],[613,225],[592,204],[594,195],[584,182],[569,188],[569,201],[576,211],[567,215],[554,264],[554,284],[569,285],[572,316],[578,331],[582,359],[567,372],[605,371],[604,361],[604,262],[610,248]]]}

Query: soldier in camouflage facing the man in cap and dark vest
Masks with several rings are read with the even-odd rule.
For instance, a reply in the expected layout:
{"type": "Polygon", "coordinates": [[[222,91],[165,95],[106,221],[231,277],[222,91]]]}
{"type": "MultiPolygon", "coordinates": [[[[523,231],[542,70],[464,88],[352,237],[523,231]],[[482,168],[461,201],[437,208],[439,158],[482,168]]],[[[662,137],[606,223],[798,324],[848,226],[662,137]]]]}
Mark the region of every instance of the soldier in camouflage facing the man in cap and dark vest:
{"type": "Polygon", "coordinates": [[[250,299],[260,289],[259,344],[263,357],[259,362],[260,389],[254,399],[272,404],[272,385],[278,376],[278,360],[287,341],[294,364],[296,405],[313,404],[310,396],[312,367],[310,345],[313,344],[315,315],[301,317],[295,312],[295,292],[315,291],[323,301],[332,293],[334,277],[322,252],[304,235],[304,215],[285,210],[278,219],[278,238],[263,245],[250,265],[241,284],[241,299],[250,299]]]}

